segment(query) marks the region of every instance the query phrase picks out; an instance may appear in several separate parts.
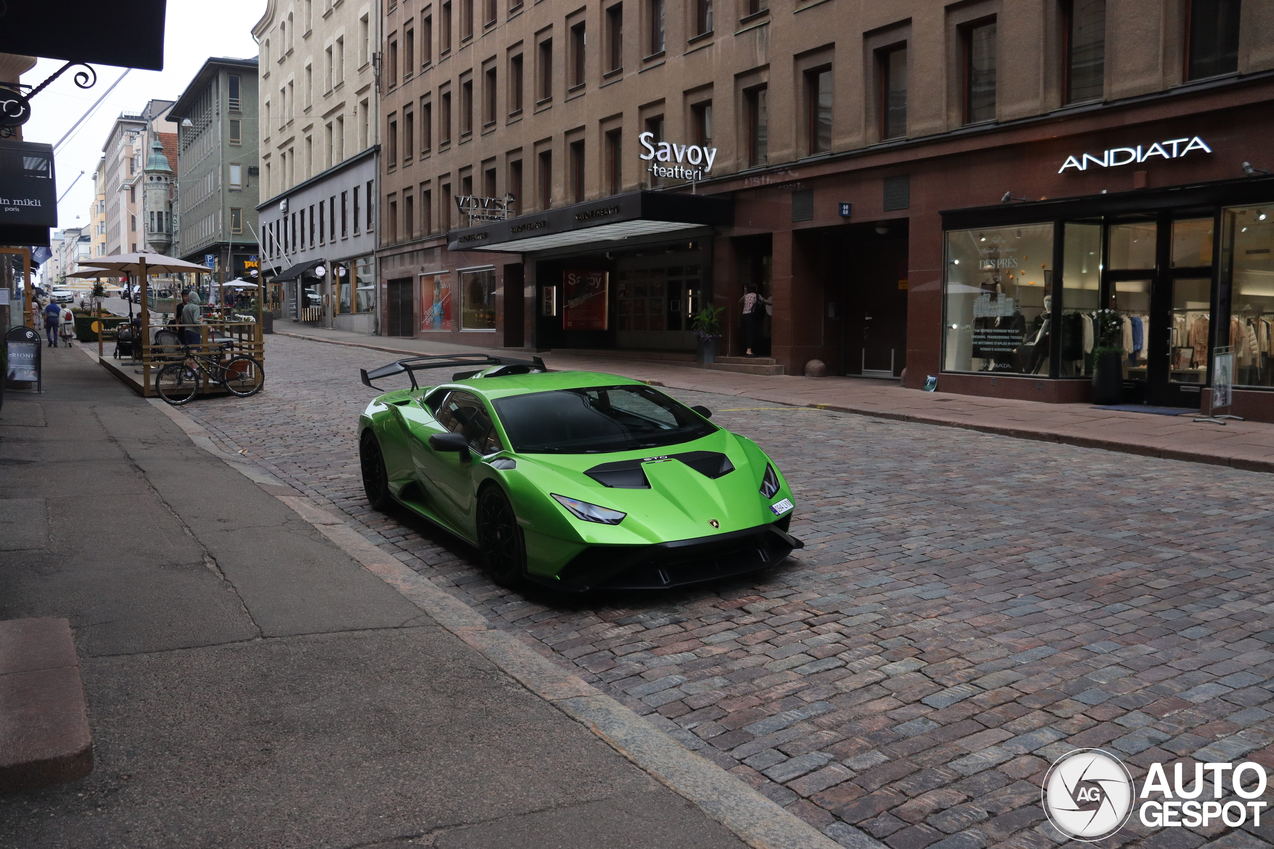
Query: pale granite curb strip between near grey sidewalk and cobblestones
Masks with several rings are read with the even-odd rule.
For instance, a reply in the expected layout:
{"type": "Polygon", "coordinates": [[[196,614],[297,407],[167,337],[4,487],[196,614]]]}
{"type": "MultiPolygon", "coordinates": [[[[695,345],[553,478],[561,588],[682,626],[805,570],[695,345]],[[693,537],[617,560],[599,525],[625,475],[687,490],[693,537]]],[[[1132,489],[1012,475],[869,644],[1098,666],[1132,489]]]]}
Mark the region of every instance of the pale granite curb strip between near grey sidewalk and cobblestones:
{"type": "Polygon", "coordinates": [[[845,845],[785,811],[716,764],[691,752],[631,709],[541,657],[515,635],[496,629],[469,605],[377,549],[343,518],[320,508],[264,470],[220,451],[209,433],[181,410],[159,398],[148,401],[172,419],[191,442],[290,507],[364,569],[428,614],[441,628],[476,649],[536,696],[585,726],[657,782],[697,804],[749,846],[837,849],[845,845]],[[280,494],[283,489],[296,494],[280,494]]]}

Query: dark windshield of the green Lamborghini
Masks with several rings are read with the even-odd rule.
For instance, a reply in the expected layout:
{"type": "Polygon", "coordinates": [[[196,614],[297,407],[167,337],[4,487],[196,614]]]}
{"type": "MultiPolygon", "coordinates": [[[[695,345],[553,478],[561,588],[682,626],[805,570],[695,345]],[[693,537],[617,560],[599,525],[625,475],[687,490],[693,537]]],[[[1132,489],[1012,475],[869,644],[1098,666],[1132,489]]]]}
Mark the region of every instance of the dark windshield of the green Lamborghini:
{"type": "Polygon", "coordinates": [[[496,401],[520,453],[592,454],[657,448],[716,430],[648,386],[599,386],[515,395],[496,401]]]}

